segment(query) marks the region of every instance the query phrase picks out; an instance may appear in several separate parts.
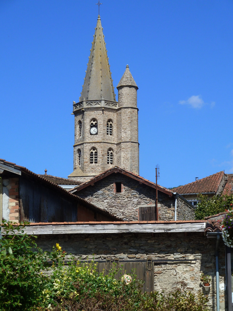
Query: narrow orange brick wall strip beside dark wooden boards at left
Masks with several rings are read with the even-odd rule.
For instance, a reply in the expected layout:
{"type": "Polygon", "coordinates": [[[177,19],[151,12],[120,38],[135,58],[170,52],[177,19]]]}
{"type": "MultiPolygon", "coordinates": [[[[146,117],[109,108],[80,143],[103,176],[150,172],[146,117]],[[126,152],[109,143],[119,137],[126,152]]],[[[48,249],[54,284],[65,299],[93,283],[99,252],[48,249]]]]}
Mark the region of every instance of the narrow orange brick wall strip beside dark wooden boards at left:
{"type": "Polygon", "coordinates": [[[9,181],[9,220],[17,222],[20,220],[19,178],[10,178],[9,181]]]}

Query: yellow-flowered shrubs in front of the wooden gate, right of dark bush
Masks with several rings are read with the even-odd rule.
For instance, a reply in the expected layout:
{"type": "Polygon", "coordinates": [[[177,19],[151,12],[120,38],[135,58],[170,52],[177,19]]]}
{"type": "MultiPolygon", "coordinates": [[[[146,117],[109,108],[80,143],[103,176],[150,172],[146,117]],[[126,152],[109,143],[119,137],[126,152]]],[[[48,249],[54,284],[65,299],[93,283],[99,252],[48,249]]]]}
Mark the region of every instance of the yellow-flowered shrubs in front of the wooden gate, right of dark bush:
{"type": "Polygon", "coordinates": [[[195,295],[190,290],[180,288],[168,294],[158,291],[142,293],[140,288],[143,281],[136,280],[133,273],[122,275],[116,280],[119,270],[112,269],[109,274],[104,275],[103,272],[98,273],[97,264],[93,260],[80,263],[72,257],[66,266],[63,261],[66,253],[58,244],[56,248],[59,256],[57,266],[53,267],[48,291],[49,311],[209,310],[206,306],[208,298],[202,292],[195,295]]]}

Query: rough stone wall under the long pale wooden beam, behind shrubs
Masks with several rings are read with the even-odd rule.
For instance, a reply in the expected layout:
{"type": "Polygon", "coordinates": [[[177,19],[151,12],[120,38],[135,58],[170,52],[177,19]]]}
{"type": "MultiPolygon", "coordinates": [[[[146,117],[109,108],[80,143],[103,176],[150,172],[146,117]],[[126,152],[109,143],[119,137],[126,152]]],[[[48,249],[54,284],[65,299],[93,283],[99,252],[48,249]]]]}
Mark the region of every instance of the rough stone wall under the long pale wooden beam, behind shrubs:
{"type": "MultiPolygon", "coordinates": [[[[117,257],[124,259],[145,259],[151,256],[156,260],[177,259],[179,262],[155,263],[154,289],[174,289],[176,282],[186,282],[196,293],[201,290],[208,295],[211,310],[216,310],[215,286],[215,246],[216,239],[207,239],[203,233],[161,233],[161,234],[75,234],[40,236],[37,244],[44,250],[52,250],[59,243],[62,250],[72,253],[76,258],[105,259],[117,257]],[[192,262],[182,262],[192,259],[192,262]],[[201,272],[212,278],[210,290],[205,292],[201,285],[201,272]]],[[[219,245],[220,310],[224,308],[225,257],[222,240],[219,245]],[[224,288],[224,286],[223,286],[224,288]]]]}

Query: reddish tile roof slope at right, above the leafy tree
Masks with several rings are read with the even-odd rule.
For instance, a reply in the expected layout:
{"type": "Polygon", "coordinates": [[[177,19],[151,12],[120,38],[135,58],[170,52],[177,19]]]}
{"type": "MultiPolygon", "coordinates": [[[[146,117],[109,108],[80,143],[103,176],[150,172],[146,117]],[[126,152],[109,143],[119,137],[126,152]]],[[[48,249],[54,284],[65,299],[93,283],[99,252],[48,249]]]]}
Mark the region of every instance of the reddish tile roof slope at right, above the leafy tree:
{"type": "Polygon", "coordinates": [[[224,171],[210,175],[208,177],[196,180],[192,183],[187,183],[184,186],[172,189],[173,192],[182,194],[188,193],[217,193],[218,187],[224,176],[224,171]]]}

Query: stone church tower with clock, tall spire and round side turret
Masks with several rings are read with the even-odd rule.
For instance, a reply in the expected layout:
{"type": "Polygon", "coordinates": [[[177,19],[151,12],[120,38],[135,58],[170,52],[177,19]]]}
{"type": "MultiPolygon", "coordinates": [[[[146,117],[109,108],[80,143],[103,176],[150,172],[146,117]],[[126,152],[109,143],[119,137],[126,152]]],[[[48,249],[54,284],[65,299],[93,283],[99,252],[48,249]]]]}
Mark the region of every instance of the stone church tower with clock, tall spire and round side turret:
{"type": "Polygon", "coordinates": [[[74,171],[68,178],[85,182],[119,166],[139,174],[138,87],[126,66],[116,101],[100,16],[75,115],[74,171]]]}

